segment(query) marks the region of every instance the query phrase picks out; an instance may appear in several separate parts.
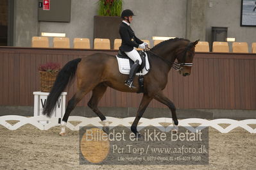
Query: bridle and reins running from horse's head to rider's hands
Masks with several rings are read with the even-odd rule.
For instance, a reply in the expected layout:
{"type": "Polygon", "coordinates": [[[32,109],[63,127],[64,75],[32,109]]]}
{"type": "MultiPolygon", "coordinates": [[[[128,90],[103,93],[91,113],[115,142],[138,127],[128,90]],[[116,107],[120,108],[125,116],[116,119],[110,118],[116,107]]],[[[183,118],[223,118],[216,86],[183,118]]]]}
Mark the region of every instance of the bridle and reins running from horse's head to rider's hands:
{"type": "Polygon", "coordinates": [[[183,70],[183,66],[192,66],[193,65],[193,63],[185,63],[187,52],[188,51],[192,52],[191,45],[192,45],[192,43],[189,43],[189,45],[187,45],[187,47],[185,47],[182,63],[178,63],[176,61],[171,62],[171,61],[168,61],[166,58],[163,58],[162,56],[158,56],[157,54],[155,54],[155,52],[151,51],[151,49],[148,47],[148,45],[146,46],[146,50],[148,52],[150,52],[151,54],[153,54],[154,56],[157,56],[158,58],[162,59],[165,63],[167,63],[167,65],[172,66],[176,71],[181,71],[181,70],[183,70]]]}

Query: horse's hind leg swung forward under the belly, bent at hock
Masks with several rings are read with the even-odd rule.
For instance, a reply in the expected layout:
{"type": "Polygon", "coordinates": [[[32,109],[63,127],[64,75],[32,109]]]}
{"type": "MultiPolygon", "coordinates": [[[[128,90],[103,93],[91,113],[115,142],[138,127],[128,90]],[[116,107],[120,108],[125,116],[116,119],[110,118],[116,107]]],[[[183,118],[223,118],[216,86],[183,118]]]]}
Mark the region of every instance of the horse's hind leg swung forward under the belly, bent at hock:
{"type": "Polygon", "coordinates": [[[108,130],[109,130],[108,121],[106,120],[106,117],[102,114],[102,112],[99,111],[98,109],[99,100],[101,100],[106,90],[107,90],[107,86],[105,86],[103,83],[98,84],[98,86],[96,86],[92,90],[92,97],[90,98],[87,105],[90,107],[90,109],[92,109],[92,111],[94,111],[99,116],[101,121],[103,121],[104,123],[103,130],[106,133],[108,133],[108,130]]]}

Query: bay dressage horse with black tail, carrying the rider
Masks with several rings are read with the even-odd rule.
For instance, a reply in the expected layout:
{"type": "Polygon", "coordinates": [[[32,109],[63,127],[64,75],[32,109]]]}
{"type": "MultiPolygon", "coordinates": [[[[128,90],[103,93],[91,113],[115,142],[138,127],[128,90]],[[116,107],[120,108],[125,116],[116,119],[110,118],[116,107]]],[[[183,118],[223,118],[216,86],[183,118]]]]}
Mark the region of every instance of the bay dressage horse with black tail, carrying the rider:
{"type": "MultiPolygon", "coordinates": [[[[162,91],[166,87],[167,75],[172,67],[179,70],[180,74],[183,76],[190,75],[192,60],[195,54],[194,47],[198,41],[199,40],[190,42],[183,38],[174,38],[161,42],[148,50],[151,68],[149,72],[144,75],[144,93],[131,127],[135,135],[139,135],[137,125],[148,107],[149,102],[153,98],[169,107],[173,118],[173,126],[178,126],[175,105],[162,91]]],[[[46,105],[42,112],[44,115],[51,117],[58,97],[60,97],[62,91],[64,91],[67,84],[69,84],[74,77],[77,79],[77,91],[67,104],[61,122],[62,130],[60,135],[65,135],[65,125],[71,111],[73,111],[76,104],[90,91],[92,91],[92,97],[87,105],[99,116],[107,127],[108,121],[98,109],[99,100],[103,97],[107,88],[110,87],[118,91],[130,93],[136,93],[139,90],[139,88],[131,89],[124,85],[124,81],[127,79],[128,75],[119,72],[115,56],[105,53],[95,53],[86,58],[78,58],[69,61],[62,70],[60,70],[56,77],[55,84],[47,97],[46,105]]],[[[139,87],[137,78],[136,76],[133,84],[139,87]]]]}

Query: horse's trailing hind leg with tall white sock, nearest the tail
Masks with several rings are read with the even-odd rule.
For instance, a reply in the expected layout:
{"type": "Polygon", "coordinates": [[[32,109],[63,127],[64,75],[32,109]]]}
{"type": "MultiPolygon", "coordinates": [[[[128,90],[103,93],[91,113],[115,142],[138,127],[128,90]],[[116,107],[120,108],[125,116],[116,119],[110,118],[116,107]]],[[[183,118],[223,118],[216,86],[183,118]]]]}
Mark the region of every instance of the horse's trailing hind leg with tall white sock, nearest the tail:
{"type": "Polygon", "coordinates": [[[60,132],[60,135],[65,135],[65,126],[67,124],[67,120],[69,118],[69,114],[71,113],[71,111],[73,111],[74,107],[76,107],[76,104],[78,104],[78,102],[80,102],[80,100],[88,93],[89,91],[81,91],[78,90],[76,92],[76,94],[74,94],[74,96],[71,98],[71,100],[69,100],[69,102],[67,103],[67,109],[65,110],[65,114],[62,118],[62,130],[60,132]]]}

